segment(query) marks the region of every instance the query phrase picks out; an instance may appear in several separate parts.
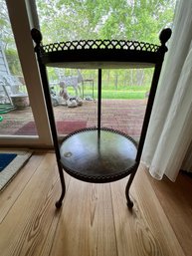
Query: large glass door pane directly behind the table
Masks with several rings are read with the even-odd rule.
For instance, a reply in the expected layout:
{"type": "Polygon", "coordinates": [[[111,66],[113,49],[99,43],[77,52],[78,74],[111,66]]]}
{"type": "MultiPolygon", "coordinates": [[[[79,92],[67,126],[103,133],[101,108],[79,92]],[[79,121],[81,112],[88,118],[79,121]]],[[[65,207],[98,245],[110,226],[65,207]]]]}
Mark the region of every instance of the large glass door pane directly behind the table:
{"type": "MultiPolygon", "coordinates": [[[[36,3],[44,44],[82,39],[160,44],[159,32],[171,27],[176,0],[158,4],[121,0],[36,3]]],[[[48,74],[59,134],[95,127],[97,71],[48,69],[48,74]],[[64,129],[68,125],[70,128],[64,129]]],[[[139,138],[151,76],[151,69],[102,71],[101,127],[117,128],[139,138]]]]}

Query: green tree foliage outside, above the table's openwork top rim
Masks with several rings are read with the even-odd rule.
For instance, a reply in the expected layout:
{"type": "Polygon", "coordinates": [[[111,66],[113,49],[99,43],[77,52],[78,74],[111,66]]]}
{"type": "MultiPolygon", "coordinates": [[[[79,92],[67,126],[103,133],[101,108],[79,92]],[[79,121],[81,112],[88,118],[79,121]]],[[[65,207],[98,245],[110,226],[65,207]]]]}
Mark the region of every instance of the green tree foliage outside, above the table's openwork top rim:
{"type": "Polygon", "coordinates": [[[38,0],[41,29],[48,41],[129,39],[158,43],[170,26],[176,0],[38,0]],[[47,36],[46,36],[47,37],[47,36]]]}

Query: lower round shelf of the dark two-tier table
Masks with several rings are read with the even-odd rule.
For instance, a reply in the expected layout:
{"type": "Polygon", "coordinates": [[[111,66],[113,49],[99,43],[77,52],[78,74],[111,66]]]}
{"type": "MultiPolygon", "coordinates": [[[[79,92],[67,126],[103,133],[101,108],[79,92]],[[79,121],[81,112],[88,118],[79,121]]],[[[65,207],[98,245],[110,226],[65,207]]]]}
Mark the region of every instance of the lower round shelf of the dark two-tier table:
{"type": "Polygon", "coordinates": [[[88,182],[115,181],[137,167],[136,142],[111,128],[77,130],[65,138],[60,151],[64,169],[88,182]]]}

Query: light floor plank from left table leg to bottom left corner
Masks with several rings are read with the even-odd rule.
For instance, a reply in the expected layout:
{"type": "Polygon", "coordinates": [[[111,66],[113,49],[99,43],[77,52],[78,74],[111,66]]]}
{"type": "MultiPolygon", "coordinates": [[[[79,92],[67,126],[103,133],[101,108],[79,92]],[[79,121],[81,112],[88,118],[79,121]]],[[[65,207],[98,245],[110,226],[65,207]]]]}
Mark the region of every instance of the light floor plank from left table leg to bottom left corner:
{"type": "Polygon", "coordinates": [[[31,181],[0,225],[3,256],[39,255],[54,218],[59,196],[55,155],[46,154],[31,181]],[[6,233],[6,236],[3,235],[6,233]]]}

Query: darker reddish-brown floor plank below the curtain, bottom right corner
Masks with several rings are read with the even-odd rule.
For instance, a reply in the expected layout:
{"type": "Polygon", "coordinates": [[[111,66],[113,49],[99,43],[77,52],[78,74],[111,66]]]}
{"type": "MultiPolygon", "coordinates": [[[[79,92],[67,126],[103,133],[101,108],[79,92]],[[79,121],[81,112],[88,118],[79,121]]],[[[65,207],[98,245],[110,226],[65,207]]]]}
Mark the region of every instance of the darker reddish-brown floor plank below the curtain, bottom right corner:
{"type": "MultiPolygon", "coordinates": [[[[146,173],[147,174],[147,173],[146,173]]],[[[176,233],[186,256],[192,255],[192,178],[180,173],[176,182],[167,177],[158,181],[147,177],[176,233]]]]}

